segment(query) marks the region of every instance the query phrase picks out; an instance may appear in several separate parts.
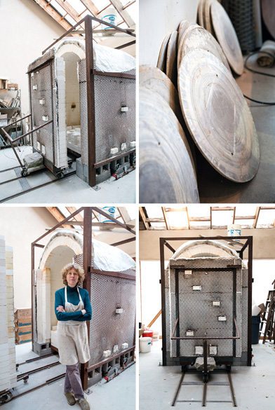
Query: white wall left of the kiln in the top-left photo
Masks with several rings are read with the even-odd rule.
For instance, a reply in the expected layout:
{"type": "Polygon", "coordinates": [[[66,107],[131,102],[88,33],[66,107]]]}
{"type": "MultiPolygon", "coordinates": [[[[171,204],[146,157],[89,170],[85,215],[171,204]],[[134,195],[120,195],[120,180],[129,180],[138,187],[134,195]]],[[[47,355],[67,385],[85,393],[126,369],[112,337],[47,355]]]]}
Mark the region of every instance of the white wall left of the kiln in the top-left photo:
{"type": "Polygon", "coordinates": [[[28,65],[65,33],[33,0],[0,0],[0,77],[18,83],[22,112],[29,112],[28,65]]]}

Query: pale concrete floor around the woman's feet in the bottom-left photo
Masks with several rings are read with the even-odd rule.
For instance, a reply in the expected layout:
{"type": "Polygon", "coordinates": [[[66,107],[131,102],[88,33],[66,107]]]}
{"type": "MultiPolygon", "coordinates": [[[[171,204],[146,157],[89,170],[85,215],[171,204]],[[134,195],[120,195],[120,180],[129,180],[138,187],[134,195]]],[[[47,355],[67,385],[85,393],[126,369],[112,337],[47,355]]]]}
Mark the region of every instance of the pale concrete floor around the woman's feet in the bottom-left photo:
{"type": "MultiPolygon", "coordinates": [[[[32,352],[31,348],[32,343],[24,343],[16,346],[16,363],[22,363],[25,362],[25,360],[37,357],[37,355],[32,352]]],[[[58,362],[57,355],[38,360],[37,362],[22,364],[18,368],[18,375],[52,362],[58,362]]],[[[90,404],[90,408],[101,410],[135,410],[135,371],[136,366],[133,364],[112,381],[109,381],[109,383],[107,383],[105,379],[102,379],[100,383],[90,387],[90,392],[86,397],[90,404]]],[[[15,390],[11,391],[15,396],[19,392],[29,390],[36,385],[45,383],[49,378],[53,378],[62,373],[65,373],[65,366],[59,364],[56,367],[29,376],[29,381],[26,384],[24,384],[23,381],[19,381],[15,390]]],[[[3,404],[1,408],[3,410],[80,409],[78,403],[75,404],[75,407],[70,407],[69,404],[67,404],[67,400],[63,394],[63,385],[64,378],[51,385],[46,385],[33,392],[29,392],[26,395],[22,395],[21,397],[13,398],[11,402],[3,404]]]]}

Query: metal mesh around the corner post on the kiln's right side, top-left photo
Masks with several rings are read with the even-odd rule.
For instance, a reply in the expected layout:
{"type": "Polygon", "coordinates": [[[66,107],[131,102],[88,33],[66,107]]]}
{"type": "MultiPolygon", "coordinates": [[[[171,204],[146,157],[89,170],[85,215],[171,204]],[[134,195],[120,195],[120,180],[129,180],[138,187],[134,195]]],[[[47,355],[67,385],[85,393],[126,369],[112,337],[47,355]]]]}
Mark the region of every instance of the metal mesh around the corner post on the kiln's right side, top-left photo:
{"type": "MultiPolygon", "coordinates": [[[[126,71],[135,74],[135,70],[126,71]]],[[[118,148],[116,155],[130,151],[135,141],[135,79],[95,75],[95,161],[112,159],[111,148],[118,148]],[[128,111],[121,112],[121,107],[128,111]],[[126,149],[121,149],[126,144],[126,149]]],[[[81,160],[88,165],[88,130],[86,95],[86,60],[79,62],[81,107],[81,160]],[[83,146],[83,147],[82,147],[83,146]]]]}

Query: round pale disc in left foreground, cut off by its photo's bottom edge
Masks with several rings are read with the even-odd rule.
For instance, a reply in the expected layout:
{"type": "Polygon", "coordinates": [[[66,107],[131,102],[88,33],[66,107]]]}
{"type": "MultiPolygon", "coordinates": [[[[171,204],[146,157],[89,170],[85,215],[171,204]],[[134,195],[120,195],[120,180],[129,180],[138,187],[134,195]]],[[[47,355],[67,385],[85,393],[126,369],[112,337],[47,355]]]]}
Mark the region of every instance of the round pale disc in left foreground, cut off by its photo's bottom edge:
{"type": "Polygon", "coordinates": [[[199,203],[184,132],[163,98],[140,87],[140,203],[199,203]]]}

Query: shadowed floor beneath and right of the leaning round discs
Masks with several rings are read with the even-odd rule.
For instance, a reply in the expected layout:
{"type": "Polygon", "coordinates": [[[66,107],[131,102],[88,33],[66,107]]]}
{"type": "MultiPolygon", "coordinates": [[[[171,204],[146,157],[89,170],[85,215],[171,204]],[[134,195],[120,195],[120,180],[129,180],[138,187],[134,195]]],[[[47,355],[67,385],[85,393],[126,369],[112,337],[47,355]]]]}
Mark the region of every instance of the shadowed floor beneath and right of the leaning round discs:
{"type": "MultiPolygon", "coordinates": [[[[248,67],[275,74],[275,67],[260,69],[257,55],[250,57],[248,67]]],[[[275,81],[269,76],[244,69],[236,78],[243,94],[254,100],[275,102],[275,81]]],[[[196,149],[198,187],[201,203],[274,203],[275,202],[275,105],[248,102],[260,142],[260,166],[255,177],[238,184],[222,177],[196,149]]]]}

